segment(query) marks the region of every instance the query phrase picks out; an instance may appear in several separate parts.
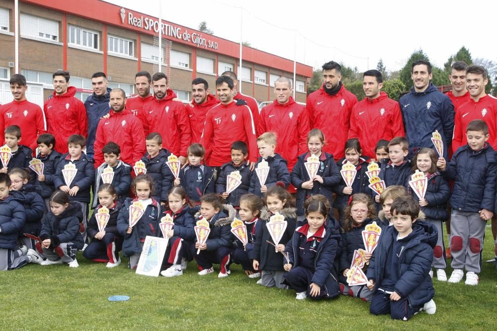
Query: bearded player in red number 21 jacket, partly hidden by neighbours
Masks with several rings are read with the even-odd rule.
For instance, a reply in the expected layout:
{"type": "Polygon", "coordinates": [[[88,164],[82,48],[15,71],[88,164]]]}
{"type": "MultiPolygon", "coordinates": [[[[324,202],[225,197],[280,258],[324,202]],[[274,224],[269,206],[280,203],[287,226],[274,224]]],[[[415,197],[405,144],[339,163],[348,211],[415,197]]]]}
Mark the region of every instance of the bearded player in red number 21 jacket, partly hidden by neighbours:
{"type": "Polygon", "coordinates": [[[150,131],[147,114],[144,112],[144,108],[148,103],[154,100],[154,96],[150,94],[151,83],[152,76],[148,71],[138,71],[135,75],[135,87],[138,95],[126,99],[126,108],[140,119],[145,136],[147,136],[150,131]]]}

